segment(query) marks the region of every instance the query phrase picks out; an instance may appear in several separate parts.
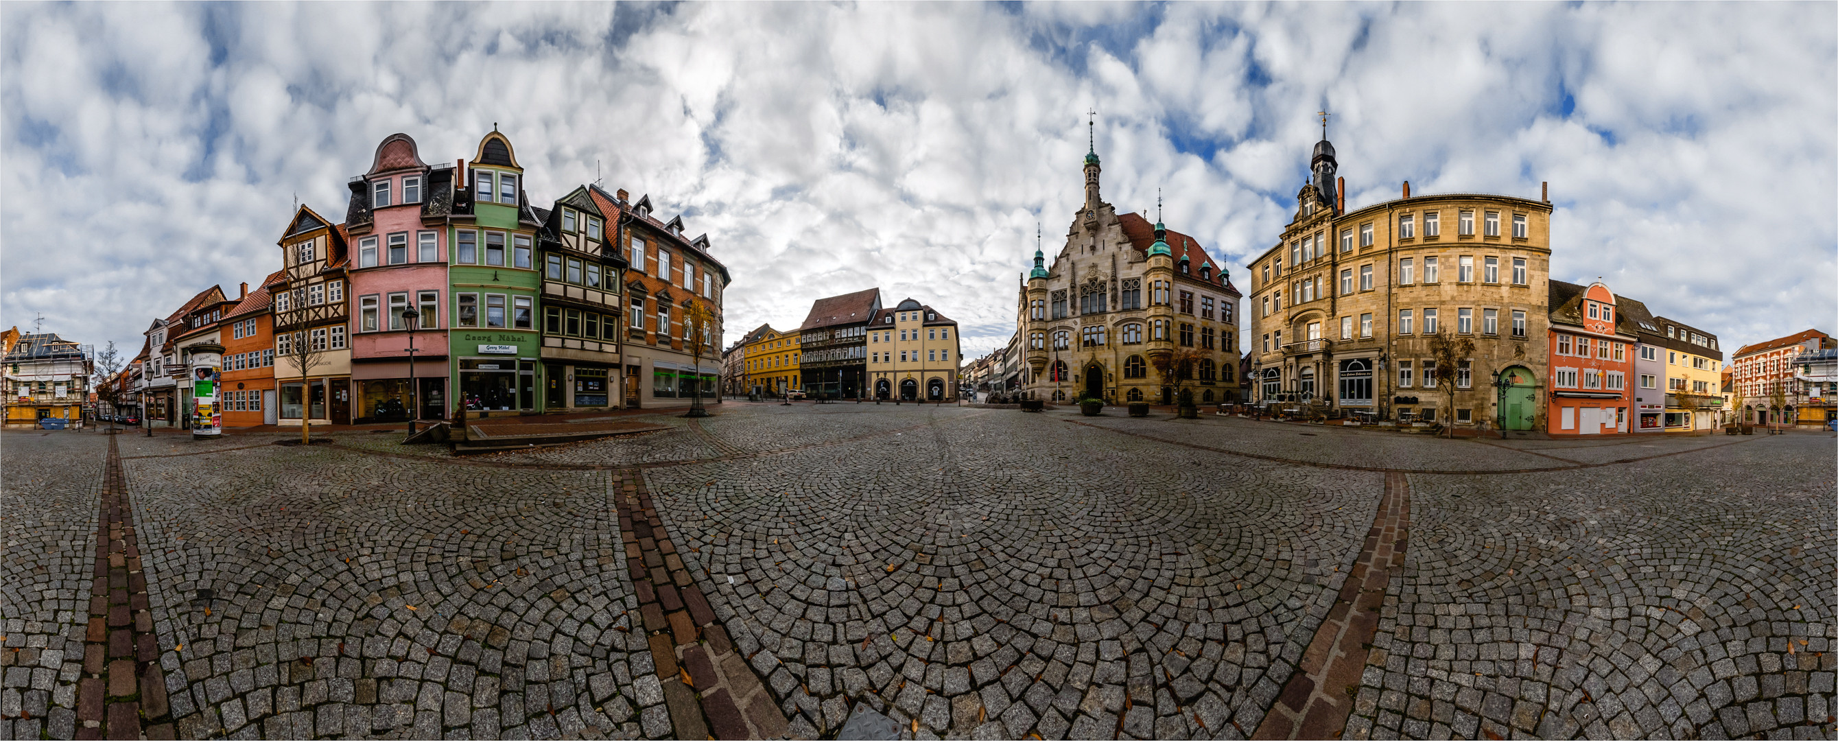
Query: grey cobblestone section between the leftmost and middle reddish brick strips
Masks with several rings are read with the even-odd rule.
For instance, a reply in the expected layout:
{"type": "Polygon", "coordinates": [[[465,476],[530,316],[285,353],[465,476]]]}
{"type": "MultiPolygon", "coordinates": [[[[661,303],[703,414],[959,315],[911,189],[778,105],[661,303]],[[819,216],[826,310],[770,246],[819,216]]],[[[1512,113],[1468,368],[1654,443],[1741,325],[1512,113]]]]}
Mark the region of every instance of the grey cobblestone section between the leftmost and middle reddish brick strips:
{"type": "Polygon", "coordinates": [[[667,735],[608,474],[267,447],[129,476],[182,737],[667,735]]]}

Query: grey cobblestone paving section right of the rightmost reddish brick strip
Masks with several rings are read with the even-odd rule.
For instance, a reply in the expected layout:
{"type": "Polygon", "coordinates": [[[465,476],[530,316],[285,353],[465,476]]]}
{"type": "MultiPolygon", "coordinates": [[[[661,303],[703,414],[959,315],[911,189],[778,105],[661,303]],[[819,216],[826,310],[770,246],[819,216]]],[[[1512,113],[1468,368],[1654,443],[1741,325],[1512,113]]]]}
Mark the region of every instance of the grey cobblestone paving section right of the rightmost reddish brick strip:
{"type": "Polygon", "coordinates": [[[1410,480],[1406,570],[1345,737],[1838,728],[1831,436],[1410,480]]]}

